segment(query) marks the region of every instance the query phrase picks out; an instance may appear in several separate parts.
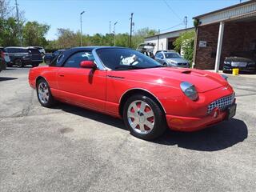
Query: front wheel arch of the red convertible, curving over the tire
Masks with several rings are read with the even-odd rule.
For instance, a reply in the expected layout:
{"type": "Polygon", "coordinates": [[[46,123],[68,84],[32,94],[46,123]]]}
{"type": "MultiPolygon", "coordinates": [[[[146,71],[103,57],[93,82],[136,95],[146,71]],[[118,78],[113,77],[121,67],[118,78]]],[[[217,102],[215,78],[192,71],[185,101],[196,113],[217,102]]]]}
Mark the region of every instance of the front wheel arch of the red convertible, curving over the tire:
{"type": "Polygon", "coordinates": [[[161,108],[162,112],[164,114],[166,114],[166,110],[162,106],[162,102],[160,102],[159,99],[154,94],[152,94],[149,90],[145,90],[142,88],[133,88],[130,90],[126,90],[126,92],[124,94],[122,94],[122,96],[119,100],[119,114],[121,117],[122,117],[122,111],[123,111],[123,107],[124,107],[126,100],[131,95],[134,95],[134,94],[145,94],[146,96],[152,98],[154,100],[154,102],[156,102],[158,104],[158,106],[161,108]]]}

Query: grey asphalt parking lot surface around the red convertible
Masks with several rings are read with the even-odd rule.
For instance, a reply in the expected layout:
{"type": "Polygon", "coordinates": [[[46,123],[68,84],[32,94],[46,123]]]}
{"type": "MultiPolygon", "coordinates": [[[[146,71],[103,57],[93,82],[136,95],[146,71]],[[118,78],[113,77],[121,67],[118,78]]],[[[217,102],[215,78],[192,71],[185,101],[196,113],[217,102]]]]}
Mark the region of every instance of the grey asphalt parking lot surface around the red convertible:
{"type": "Polygon", "coordinates": [[[30,68],[0,73],[0,191],[255,191],[256,78],[233,77],[236,116],[134,138],[121,120],[39,105],[30,68]]]}

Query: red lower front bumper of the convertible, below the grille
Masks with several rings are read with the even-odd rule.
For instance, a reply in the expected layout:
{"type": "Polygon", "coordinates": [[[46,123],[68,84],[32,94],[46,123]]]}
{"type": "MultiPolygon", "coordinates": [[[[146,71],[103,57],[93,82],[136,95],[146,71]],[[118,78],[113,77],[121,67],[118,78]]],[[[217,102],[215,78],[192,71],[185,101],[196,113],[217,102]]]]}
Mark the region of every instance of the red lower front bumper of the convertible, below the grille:
{"type": "Polygon", "coordinates": [[[171,130],[190,132],[195,130],[202,130],[207,126],[212,126],[218,122],[222,122],[225,120],[226,115],[226,111],[220,111],[218,117],[215,118],[214,114],[209,114],[201,118],[181,117],[166,114],[166,122],[171,130]]]}

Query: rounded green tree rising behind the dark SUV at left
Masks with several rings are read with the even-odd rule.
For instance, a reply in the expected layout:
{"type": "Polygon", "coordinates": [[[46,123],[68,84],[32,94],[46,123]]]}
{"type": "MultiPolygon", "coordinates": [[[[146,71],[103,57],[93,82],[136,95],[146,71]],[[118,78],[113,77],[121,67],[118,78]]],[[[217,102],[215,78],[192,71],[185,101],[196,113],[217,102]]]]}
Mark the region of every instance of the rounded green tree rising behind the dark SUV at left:
{"type": "Polygon", "coordinates": [[[46,46],[47,41],[45,35],[50,26],[46,24],[40,24],[38,22],[26,22],[23,27],[23,40],[26,46],[46,46]]]}

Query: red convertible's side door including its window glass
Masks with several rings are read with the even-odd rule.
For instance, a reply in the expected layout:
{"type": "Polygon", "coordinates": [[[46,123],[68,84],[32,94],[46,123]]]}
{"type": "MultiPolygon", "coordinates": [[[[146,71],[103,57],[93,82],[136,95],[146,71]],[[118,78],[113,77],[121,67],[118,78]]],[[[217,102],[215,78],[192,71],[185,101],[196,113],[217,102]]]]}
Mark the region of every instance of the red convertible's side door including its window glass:
{"type": "Polygon", "coordinates": [[[106,71],[82,68],[80,62],[94,60],[90,51],[80,51],[70,56],[59,68],[58,90],[66,102],[93,110],[105,110],[106,71]]]}

